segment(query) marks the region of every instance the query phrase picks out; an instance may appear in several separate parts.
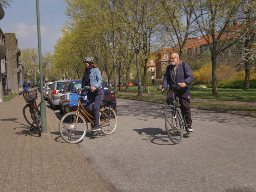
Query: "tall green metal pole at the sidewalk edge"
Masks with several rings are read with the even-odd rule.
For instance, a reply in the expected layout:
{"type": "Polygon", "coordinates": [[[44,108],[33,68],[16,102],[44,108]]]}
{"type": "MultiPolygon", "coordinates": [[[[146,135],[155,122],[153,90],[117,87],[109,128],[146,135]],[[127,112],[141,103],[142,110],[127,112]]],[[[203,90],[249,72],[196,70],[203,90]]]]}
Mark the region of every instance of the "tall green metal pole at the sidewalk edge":
{"type": "MultiPolygon", "coordinates": [[[[42,53],[41,53],[41,33],[40,33],[40,16],[39,16],[39,2],[36,0],[36,18],[37,18],[37,26],[38,26],[38,58],[39,58],[39,72],[40,72],[40,91],[41,91],[41,101],[43,98],[43,68],[42,68],[42,53]]],[[[41,111],[41,127],[42,132],[47,132],[47,124],[46,124],[46,107],[45,102],[40,105],[41,111]]]]}

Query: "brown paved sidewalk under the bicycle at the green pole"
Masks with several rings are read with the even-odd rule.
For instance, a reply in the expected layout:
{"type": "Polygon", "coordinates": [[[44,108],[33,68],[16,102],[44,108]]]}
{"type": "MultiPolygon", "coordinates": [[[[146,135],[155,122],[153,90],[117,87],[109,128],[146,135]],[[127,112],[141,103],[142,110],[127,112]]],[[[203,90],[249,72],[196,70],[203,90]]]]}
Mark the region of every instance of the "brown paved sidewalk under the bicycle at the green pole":
{"type": "Polygon", "coordinates": [[[93,170],[79,144],[63,141],[59,120],[48,107],[47,133],[30,134],[24,106],[18,96],[0,105],[0,191],[115,191],[93,170]]]}

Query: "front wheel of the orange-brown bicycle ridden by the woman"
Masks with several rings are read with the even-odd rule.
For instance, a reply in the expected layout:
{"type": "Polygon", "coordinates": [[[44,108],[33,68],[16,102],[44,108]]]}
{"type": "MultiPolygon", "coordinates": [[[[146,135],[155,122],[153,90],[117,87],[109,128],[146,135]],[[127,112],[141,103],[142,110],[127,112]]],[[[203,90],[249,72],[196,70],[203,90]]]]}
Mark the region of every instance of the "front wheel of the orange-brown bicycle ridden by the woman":
{"type": "Polygon", "coordinates": [[[87,126],[81,114],[77,116],[76,112],[66,113],[60,120],[60,135],[68,143],[78,143],[85,137],[87,126]]]}

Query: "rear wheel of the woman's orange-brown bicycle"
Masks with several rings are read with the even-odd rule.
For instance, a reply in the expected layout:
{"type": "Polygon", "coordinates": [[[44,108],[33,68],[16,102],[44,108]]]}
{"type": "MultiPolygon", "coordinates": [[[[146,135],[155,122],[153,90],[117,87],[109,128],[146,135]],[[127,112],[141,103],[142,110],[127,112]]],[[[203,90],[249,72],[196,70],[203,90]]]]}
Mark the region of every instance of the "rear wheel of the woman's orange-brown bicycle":
{"type": "Polygon", "coordinates": [[[100,109],[100,128],[106,135],[115,132],[117,128],[117,114],[112,107],[103,107],[100,109]]]}

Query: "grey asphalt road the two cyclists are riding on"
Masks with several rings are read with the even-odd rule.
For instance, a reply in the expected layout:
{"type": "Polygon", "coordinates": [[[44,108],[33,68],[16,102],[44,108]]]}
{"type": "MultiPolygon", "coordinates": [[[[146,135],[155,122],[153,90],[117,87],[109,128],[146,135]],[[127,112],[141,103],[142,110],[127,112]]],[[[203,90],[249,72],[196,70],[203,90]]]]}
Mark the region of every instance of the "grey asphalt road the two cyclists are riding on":
{"type": "Polygon", "coordinates": [[[256,118],[193,109],[195,131],[174,145],[161,106],[117,99],[115,133],[77,144],[104,180],[117,191],[256,191],[256,118]]]}

